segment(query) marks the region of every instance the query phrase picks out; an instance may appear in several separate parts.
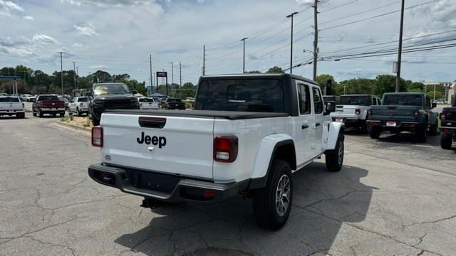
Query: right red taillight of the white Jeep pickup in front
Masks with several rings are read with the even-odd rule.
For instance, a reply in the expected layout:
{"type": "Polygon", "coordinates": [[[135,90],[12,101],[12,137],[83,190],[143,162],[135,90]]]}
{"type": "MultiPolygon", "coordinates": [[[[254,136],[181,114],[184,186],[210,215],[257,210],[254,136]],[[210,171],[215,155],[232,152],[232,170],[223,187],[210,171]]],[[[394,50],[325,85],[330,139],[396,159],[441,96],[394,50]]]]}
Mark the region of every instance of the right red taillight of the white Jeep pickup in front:
{"type": "Polygon", "coordinates": [[[214,138],[214,160],[234,162],[237,158],[238,140],[236,136],[219,136],[214,138]]]}

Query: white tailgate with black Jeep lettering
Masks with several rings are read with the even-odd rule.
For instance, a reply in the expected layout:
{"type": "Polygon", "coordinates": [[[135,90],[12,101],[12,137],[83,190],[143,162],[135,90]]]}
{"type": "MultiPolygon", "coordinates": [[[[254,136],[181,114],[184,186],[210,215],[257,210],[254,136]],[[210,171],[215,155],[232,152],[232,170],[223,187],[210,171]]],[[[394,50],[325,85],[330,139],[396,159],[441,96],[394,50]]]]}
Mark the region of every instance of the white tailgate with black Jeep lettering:
{"type": "Polygon", "coordinates": [[[109,114],[101,117],[102,161],[116,166],[212,179],[213,118],[109,114]],[[142,122],[164,120],[160,128],[142,122]]]}

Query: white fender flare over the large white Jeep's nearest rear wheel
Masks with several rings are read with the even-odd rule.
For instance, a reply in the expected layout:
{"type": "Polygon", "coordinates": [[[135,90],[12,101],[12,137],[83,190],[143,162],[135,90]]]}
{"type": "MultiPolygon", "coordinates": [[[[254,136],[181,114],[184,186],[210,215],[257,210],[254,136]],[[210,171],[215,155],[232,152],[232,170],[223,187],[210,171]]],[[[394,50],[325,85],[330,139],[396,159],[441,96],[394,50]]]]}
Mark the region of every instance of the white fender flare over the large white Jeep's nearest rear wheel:
{"type": "Polygon", "coordinates": [[[276,149],[285,145],[293,146],[294,165],[290,167],[291,169],[296,169],[296,150],[293,139],[288,134],[268,135],[264,137],[259,144],[249,189],[264,188],[264,186],[266,186],[269,170],[271,169],[271,164],[274,160],[274,154],[276,154],[276,149]]]}

